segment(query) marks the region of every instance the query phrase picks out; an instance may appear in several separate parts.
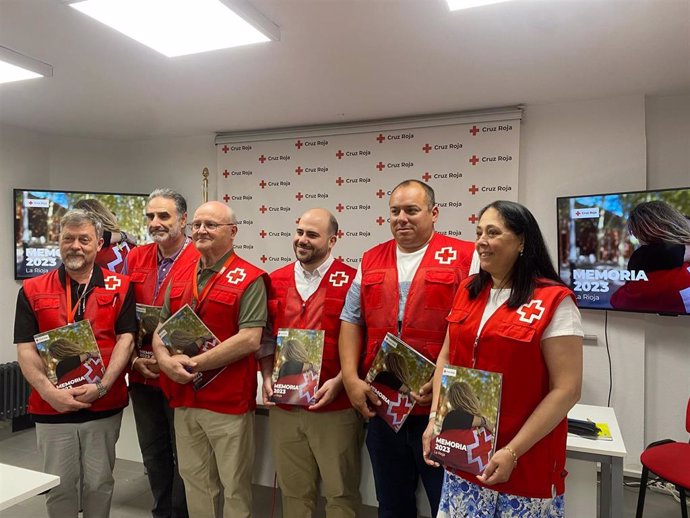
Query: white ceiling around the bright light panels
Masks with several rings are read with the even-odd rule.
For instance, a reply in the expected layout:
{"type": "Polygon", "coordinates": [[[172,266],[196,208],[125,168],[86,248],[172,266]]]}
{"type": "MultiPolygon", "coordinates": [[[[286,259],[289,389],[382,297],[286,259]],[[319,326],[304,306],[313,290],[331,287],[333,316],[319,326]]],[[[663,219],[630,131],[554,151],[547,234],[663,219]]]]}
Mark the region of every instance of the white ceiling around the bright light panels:
{"type": "Polygon", "coordinates": [[[0,45],[54,76],[0,122],[145,139],[690,92],[690,0],[252,0],[281,40],[166,58],[60,0],[0,0],[0,45]]]}

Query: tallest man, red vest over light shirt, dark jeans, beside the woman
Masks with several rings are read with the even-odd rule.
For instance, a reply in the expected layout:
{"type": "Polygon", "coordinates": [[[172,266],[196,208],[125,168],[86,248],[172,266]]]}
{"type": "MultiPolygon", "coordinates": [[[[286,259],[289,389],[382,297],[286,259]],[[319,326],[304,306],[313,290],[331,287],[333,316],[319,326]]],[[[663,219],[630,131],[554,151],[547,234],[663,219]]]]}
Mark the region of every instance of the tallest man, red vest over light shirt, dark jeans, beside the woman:
{"type": "Polygon", "coordinates": [[[431,381],[419,394],[412,393],[416,405],[396,433],[371,410],[381,402],[359,374],[366,375],[387,332],[436,361],[446,316],[458,284],[470,270],[474,245],[435,232],[438,206],[426,183],[400,183],[388,203],[393,239],[364,253],[340,316],[343,384],[352,406],[369,419],[366,443],[379,518],[416,518],[420,477],[431,516],[436,516],[443,470],[427,465],[422,457],[431,381]]]}

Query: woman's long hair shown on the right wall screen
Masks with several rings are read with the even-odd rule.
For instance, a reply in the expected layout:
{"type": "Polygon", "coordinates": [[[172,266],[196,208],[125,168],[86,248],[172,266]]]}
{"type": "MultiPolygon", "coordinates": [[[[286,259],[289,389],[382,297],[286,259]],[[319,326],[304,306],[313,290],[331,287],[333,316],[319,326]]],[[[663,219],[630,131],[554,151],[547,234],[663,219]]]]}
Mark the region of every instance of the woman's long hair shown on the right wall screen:
{"type": "Polygon", "coordinates": [[[647,245],[690,245],[690,222],[661,200],[645,201],[631,210],[628,232],[647,245]]]}

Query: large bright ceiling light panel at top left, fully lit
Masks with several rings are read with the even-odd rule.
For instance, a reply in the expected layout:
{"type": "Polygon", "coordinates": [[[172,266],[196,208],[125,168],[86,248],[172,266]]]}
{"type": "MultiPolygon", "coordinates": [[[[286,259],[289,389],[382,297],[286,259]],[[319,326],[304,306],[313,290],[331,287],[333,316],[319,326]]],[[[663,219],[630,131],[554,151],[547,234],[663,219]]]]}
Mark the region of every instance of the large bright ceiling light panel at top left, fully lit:
{"type": "Polygon", "coordinates": [[[168,57],[271,39],[219,0],[83,0],[70,6],[168,57]]]}

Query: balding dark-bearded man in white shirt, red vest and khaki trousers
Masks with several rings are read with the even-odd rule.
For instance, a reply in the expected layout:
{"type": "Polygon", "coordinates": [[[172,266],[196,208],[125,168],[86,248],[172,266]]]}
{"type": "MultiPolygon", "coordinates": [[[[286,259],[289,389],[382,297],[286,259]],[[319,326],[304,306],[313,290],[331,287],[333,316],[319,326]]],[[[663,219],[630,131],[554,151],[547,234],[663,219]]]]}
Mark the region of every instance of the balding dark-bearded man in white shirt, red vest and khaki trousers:
{"type": "MultiPolygon", "coordinates": [[[[299,219],[292,247],[297,261],[271,274],[268,307],[273,336],[278,328],[325,331],[319,389],[309,407],[278,405],[269,423],[284,518],[311,518],[319,475],[327,518],[354,518],[360,505],[363,420],[343,390],[338,335],[340,311],[356,270],[333,258],[338,222],[325,209],[299,219]]],[[[264,374],[264,397],[272,395],[272,365],[264,374]]]]}

